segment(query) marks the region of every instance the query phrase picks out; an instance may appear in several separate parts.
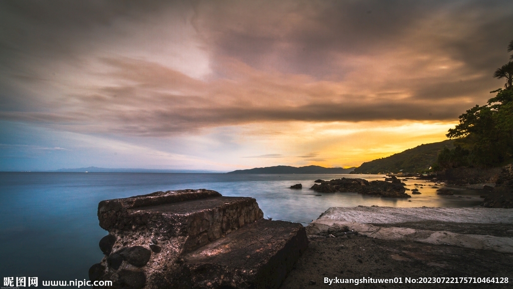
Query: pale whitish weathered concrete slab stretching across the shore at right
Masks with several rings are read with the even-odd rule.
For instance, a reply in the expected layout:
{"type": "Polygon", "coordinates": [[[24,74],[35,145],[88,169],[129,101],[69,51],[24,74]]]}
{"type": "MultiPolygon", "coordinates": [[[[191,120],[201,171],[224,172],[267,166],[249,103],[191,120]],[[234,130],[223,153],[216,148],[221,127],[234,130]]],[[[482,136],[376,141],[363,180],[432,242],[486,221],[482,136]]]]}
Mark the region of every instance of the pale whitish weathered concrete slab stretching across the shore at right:
{"type": "Polygon", "coordinates": [[[471,249],[513,252],[513,238],[489,234],[456,233],[448,230],[424,230],[414,227],[430,221],[448,227],[475,224],[513,224],[513,209],[490,208],[329,208],[307,227],[309,234],[344,233],[350,230],[381,240],[414,241],[433,245],[453,245],[471,249]],[[392,224],[382,226],[383,224],[392,224]]]}

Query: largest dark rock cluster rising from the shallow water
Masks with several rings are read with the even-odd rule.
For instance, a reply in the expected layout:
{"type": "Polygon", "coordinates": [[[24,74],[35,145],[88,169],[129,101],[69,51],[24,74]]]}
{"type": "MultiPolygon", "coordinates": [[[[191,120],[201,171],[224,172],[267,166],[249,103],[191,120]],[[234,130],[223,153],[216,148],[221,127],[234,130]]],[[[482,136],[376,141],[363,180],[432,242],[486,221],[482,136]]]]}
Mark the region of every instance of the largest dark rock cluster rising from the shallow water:
{"type": "Polygon", "coordinates": [[[356,192],[366,195],[377,195],[384,197],[411,197],[406,194],[406,188],[399,184],[385,182],[383,180],[373,180],[369,182],[363,178],[340,178],[323,181],[321,184],[314,184],[310,189],[322,193],[334,192],[356,192]]]}

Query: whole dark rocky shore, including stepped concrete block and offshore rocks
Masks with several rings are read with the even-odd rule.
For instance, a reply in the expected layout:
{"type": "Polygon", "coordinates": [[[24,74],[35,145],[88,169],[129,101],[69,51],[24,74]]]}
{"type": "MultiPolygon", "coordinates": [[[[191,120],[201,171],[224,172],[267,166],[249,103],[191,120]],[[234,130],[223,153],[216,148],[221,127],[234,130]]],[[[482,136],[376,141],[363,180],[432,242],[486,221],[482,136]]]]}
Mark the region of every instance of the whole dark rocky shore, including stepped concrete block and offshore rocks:
{"type": "MultiPolygon", "coordinates": [[[[513,262],[511,165],[495,178],[473,178],[495,184],[447,181],[456,188],[439,188],[443,178],[427,178],[435,182],[427,186],[438,194],[452,195],[465,186],[480,189],[485,208],[329,208],[305,229],[297,223],[264,220],[254,198],[224,197],[204,189],[102,201],[98,220],[109,234],[99,244],[105,257],[91,266],[89,276],[133,289],[310,288],[324,286],[326,277],[429,275],[513,281],[513,270],[506,265],[513,262]]],[[[310,189],[409,198],[402,181],[411,180],[395,175],[371,182],[318,179],[310,189]]],[[[420,194],[417,187],[422,186],[414,185],[411,193],[420,194]]]]}

